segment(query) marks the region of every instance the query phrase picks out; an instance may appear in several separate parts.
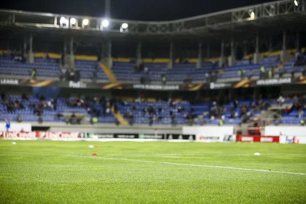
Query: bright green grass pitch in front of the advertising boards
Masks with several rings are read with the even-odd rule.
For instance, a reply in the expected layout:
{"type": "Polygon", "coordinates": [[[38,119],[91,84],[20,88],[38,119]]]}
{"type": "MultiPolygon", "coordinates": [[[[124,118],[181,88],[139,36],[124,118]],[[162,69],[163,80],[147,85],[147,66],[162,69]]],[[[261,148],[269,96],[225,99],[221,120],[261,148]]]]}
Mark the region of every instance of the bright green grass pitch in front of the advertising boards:
{"type": "Polygon", "coordinates": [[[16,143],[0,141],[0,203],[306,203],[306,175],[103,159],[306,173],[305,145],[16,143]]]}

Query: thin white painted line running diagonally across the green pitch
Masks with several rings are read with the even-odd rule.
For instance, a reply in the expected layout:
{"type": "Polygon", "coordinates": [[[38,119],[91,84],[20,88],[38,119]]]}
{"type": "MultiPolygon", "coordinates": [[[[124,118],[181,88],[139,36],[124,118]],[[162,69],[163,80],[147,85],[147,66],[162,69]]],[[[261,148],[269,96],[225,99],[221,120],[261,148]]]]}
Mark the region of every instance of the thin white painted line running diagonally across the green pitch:
{"type": "Polygon", "coordinates": [[[245,169],[245,168],[226,167],[226,166],[210,166],[210,165],[201,165],[201,164],[182,164],[182,163],[172,163],[172,162],[155,162],[155,161],[146,161],[146,160],[118,159],[118,158],[106,158],[106,157],[90,157],[90,156],[78,156],[78,155],[66,155],[66,156],[67,157],[79,157],[79,158],[120,160],[120,161],[130,161],[130,162],[145,162],[145,163],[171,164],[171,165],[181,165],[181,166],[198,166],[198,167],[208,167],[208,168],[235,169],[235,170],[245,170],[245,171],[260,171],[260,172],[271,172],[271,173],[286,173],[286,174],[306,175],[306,173],[285,172],[285,171],[269,171],[269,170],[261,170],[261,169],[245,169]]]}

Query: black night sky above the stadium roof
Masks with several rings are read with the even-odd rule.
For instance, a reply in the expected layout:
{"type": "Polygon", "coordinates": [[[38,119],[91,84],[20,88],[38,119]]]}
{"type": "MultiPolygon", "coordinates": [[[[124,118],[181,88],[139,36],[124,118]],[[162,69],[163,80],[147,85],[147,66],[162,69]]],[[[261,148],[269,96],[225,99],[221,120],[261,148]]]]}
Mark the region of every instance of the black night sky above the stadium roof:
{"type": "MultiPolygon", "coordinates": [[[[111,17],[130,20],[173,20],[232,9],[267,0],[111,0],[111,17]]],[[[104,16],[104,0],[2,0],[1,9],[104,16]]]]}

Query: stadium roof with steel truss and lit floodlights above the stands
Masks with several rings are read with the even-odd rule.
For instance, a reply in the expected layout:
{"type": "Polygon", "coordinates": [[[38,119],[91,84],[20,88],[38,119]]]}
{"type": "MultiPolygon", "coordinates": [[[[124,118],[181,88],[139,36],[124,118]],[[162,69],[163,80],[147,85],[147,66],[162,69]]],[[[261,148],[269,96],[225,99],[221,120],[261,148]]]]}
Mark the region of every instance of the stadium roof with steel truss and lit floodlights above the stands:
{"type": "Polygon", "coordinates": [[[175,40],[229,39],[257,32],[306,28],[306,0],[283,0],[170,21],[134,21],[0,10],[0,29],[92,38],[175,40]],[[71,20],[72,19],[72,20],[71,20]],[[85,21],[84,21],[85,19],[85,21]],[[124,24],[125,23],[125,24],[124,24]],[[127,27],[127,28],[125,28],[127,27]]]}

